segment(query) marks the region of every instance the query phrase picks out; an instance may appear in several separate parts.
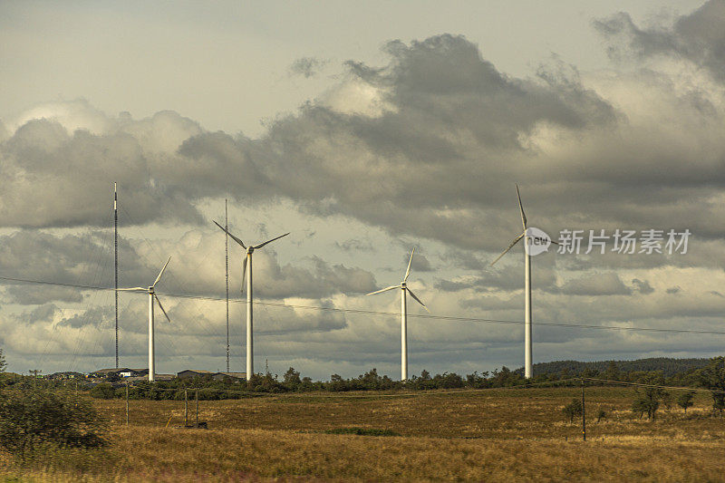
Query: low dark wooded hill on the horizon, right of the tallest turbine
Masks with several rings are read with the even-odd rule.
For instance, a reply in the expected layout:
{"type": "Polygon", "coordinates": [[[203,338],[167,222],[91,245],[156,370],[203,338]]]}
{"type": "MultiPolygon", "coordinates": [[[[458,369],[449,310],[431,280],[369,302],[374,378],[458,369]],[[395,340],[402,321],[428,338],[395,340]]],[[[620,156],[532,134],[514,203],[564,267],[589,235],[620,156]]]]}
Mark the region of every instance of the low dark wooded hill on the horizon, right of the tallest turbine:
{"type": "MultiPolygon", "coordinates": [[[[652,357],[649,359],[637,359],[635,361],[614,361],[620,372],[636,371],[662,371],[665,377],[672,377],[675,374],[684,374],[694,369],[705,367],[710,359],[674,359],[672,357],[652,357]]],[[[555,361],[541,362],[534,364],[534,374],[561,374],[567,373],[570,376],[580,375],[585,369],[590,372],[604,372],[612,361],[578,362],[578,361],[555,361]]],[[[524,368],[515,372],[523,375],[524,368]]]]}

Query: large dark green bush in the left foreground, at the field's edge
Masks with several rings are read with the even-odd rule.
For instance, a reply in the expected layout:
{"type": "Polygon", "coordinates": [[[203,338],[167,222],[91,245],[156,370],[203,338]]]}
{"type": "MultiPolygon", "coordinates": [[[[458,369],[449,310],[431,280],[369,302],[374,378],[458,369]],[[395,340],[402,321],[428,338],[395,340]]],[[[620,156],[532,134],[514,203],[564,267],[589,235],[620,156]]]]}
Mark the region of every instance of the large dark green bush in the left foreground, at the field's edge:
{"type": "Polygon", "coordinates": [[[88,401],[53,391],[0,395],[0,447],[22,454],[43,443],[104,446],[105,424],[88,401]]]}

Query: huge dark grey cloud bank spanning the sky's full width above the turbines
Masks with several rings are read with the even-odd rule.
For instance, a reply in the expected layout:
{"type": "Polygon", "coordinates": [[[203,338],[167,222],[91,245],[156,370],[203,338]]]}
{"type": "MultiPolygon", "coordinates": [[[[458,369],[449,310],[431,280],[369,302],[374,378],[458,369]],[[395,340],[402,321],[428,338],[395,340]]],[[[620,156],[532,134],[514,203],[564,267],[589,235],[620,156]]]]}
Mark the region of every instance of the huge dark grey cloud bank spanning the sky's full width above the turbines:
{"type": "Polygon", "coordinates": [[[703,116],[695,92],[678,91],[665,74],[613,81],[654,96],[643,116],[614,107],[558,60],[517,79],[449,34],[394,41],[385,52],[382,67],[347,63],[339,87],[352,91],[342,98],[308,102],[258,140],[206,132],[168,111],[121,116],[99,134],[29,121],[0,147],[9,193],[0,226],[107,223],[118,179],[135,224],[199,223],[197,204],[208,198],[250,208],[290,198],[394,236],[495,252],[519,231],[518,181],[529,225],[548,232],[690,227],[702,240],[722,237],[711,220],[725,216],[723,109],[713,103],[703,116]],[[370,110],[348,109],[360,101],[355,89],[375,98],[370,110]]]}

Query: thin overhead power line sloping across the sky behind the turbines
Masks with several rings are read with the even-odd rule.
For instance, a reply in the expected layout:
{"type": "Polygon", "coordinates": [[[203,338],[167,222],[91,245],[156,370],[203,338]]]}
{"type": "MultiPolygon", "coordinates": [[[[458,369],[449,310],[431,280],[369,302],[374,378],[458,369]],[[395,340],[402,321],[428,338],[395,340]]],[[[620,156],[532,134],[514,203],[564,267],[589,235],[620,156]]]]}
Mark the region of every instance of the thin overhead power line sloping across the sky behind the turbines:
{"type": "MultiPolygon", "coordinates": [[[[98,285],[77,285],[77,284],[64,284],[62,282],[47,282],[43,280],[31,280],[26,278],[17,278],[10,276],[0,276],[0,280],[6,280],[8,282],[16,282],[20,284],[37,284],[37,285],[58,285],[66,286],[71,288],[79,288],[83,290],[112,290],[113,287],[98,286],[98,285]]],[[[168,292],[157,292],[159,295],[185,298],[191,300],[208,300],[215,302],[224,302],[227,299],[225,297],[214,297],[210,295],[186,295],[186,294],[171,294],[168,292]]],[[[242,299],[230,299],[230,303],[233,304],[246,304],[246,300],[242,299]]],[[[363,309],[348,309],[339,307],[323,307],[320,305],[301,305],[301,304],[284,304],[279,302],[255,302],[256,305],[263,305],[269,307],[287,307],[287,308],[298,308],[308,310],[318,310],[322,312],[339,312],[343,314],[363,314],[363,315],[384,315],[384,316],[400,316],[400,313],[396,312],[383,312],[376,310],[363,310],[363,309]]],[[[409,314],[409,317],[416,317],[419,319],[431,319],[431,320],[443,320],[449,322],[474,322],[481,324],[507,324],[516,325],[524,324],[523,321],[517,320],[505,320],[505,319],[485,319],[479,317],[457,317],[452,315],[436,315],[436,314],[409,314]]],[[[619,325],[593,325],[593,324],[565,324],[560,322],[536,322],[536,325],[544,325],[548,327],[571,327],[577,329],[599,329],[599,330],[611,330],[611,331],[633,331],[633,332],[652,332],[652,333],[700,333],[708,335],[725,335],[723,331],[707,331],[698,329],[660,329],[655,327],[635,327],[635,326],[619,326],[619,325]]]]}

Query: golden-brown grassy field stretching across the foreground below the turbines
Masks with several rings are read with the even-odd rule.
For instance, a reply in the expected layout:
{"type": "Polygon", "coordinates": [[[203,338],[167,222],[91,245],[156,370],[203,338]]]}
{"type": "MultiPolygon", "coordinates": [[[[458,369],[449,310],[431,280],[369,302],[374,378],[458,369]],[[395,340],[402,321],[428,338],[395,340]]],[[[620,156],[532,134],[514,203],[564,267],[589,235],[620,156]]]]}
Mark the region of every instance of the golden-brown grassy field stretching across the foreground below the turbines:
{"type": "MultiPolygon", "coordinates": [[[[725,420],[699,395],[685,417],[629,411],[633,390],[587,388],[581,421],[561,408],[575,388],[405,394],[275,395],[200,401],[208,430],[184,429],[183,401],[96,401],[112,445],[39,455],[21,480],[583,480],[723,481],[725,420]],[[599,409],[607,416],[596,422],[599,409]],[[168,423],[168,427],[167,427],[168,423]],[[335,434],[350,429],[361,434],[335,434]],[[369,436],[365,432],[396,436],[369,436]]],[[[195,405],[189,401],[189,420],[195,405]]]]}

